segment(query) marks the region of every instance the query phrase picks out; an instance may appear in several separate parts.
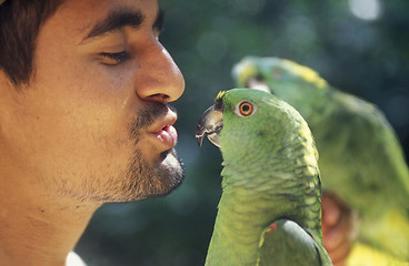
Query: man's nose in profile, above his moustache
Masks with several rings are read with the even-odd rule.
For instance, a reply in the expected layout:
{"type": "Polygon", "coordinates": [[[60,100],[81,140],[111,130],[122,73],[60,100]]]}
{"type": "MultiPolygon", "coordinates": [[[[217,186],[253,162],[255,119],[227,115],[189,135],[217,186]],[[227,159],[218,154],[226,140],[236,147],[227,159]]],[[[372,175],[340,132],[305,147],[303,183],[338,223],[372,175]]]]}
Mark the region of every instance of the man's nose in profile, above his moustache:
{"type": "Polygon", "coordinates": [[[136,91],[140,99],[172,102],[182,95],[184,79],[162,44],[156,41],[137,61],[136,91]]]}

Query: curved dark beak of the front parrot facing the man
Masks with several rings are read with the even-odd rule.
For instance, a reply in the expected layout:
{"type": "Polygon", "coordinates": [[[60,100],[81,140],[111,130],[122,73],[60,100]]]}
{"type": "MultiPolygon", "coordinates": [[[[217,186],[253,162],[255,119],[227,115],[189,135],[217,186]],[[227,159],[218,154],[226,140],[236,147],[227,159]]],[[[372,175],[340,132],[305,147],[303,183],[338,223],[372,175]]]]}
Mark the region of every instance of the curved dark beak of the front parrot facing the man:
{"type": "Polygon", "coordinates": [[[223,109],[221,102],[210,106],[200,116],[196,126],[196,141],[201,146],[203,137],[207,135],[209,141],[220,147],[220,131],[223,127],[223,109]]]}

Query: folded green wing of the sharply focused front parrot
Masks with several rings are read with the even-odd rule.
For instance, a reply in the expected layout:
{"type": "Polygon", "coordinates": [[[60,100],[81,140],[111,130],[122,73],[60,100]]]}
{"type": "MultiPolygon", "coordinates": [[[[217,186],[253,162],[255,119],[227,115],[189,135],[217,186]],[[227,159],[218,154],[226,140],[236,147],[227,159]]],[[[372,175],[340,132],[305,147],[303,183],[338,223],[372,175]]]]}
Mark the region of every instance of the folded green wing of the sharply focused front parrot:
{"type": "Polygon", "coordinates": [[[297,223],[279,219],[268,226],[259,243],[257,266],[332,265],[322,244],[297,223]]]}

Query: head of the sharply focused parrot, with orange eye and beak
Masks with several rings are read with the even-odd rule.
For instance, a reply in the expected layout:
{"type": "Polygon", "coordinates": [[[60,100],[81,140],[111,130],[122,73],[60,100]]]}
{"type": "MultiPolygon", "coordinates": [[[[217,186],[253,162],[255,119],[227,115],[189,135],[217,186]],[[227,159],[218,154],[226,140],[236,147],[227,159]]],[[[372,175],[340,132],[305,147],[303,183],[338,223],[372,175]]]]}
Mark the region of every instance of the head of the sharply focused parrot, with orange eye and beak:
{"type": "Polygon", "coordinates": [[[255,164],[276,154],[282,157],[283,150],[292,156],[291,151],[299,149],[296,145],[306,140],[313,143],[298,111],[270,93],[248,89],[218,94],[197,125],[199,145],[205,136],[220,147],[225,163],[236,160],[241,164],[255,164]]]}

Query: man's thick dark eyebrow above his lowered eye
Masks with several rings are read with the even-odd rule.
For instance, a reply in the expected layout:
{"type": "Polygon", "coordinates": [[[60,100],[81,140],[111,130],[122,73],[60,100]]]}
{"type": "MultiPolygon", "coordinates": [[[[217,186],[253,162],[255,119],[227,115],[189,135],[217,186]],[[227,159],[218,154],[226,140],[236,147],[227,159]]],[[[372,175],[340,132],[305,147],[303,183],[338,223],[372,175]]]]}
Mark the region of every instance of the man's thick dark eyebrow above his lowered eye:
{"type": "Polygon", "coordinates": [[[106,19],[97,22],[92,27],[84,40],[103,35],[126,25],[138,29],[142,24],[144,16],[140,11],[113,10],[106,17],[106,19]]]}

